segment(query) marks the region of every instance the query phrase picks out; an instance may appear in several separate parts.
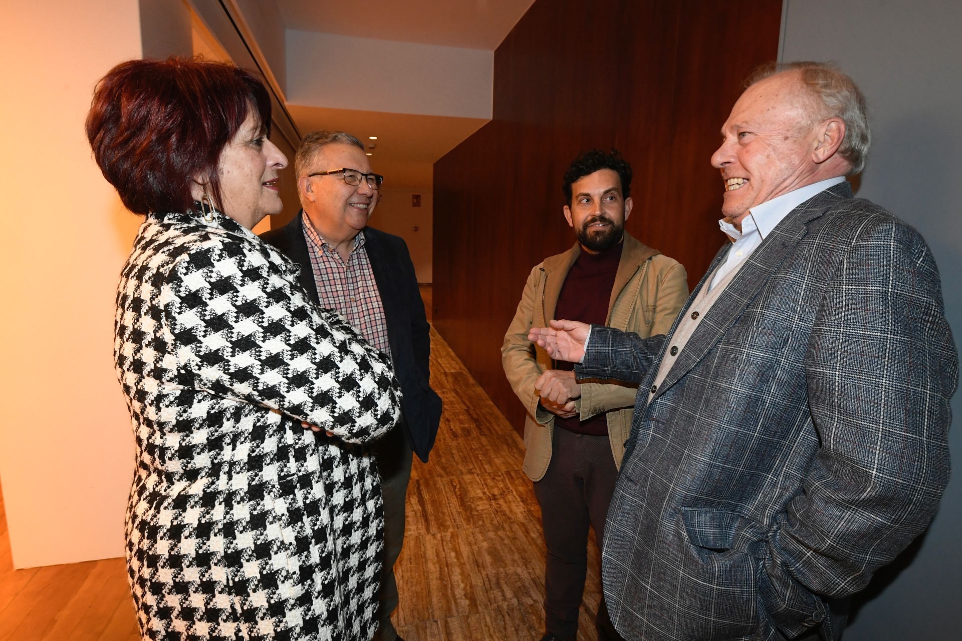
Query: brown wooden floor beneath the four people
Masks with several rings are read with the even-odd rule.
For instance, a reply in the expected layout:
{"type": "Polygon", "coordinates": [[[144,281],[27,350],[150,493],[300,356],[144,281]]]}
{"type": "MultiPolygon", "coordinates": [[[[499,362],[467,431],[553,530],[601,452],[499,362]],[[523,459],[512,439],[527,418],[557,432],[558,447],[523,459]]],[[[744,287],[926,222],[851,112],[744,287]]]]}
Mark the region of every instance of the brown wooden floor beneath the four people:
{"type": "MultiPolygon", "coordinates": [[[[444,413],[430,463],[416,458],[412,471],[396,628],[406,641],[540,639],[544,539],[519,434],[431,336],[444,413]]],[[[13,570],[2,507],[0,641],[139,638],[122,559],[13,570]]],[[[598,594],[593,539],[579,641],[595,641],[598,594]]]]}

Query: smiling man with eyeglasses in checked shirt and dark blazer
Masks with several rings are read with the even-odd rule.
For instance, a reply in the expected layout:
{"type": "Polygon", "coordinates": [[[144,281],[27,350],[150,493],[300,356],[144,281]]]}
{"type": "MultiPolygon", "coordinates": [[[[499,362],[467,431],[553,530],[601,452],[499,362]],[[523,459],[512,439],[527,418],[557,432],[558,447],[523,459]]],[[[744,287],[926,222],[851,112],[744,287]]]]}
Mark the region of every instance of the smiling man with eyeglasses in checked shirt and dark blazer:
{"type": "Polygon", "coordinates": [[[339,311],[391,358],[404,394],[400,423],[372,447],[385,520],[374,638],[394,641],[399,637],[391,622],[398,600],[393,565],[404,539],[412,452],[427,462],[441,420],[441,398],[428,385],[427,319],[404,240],[367,227],[383,177],[371,173],[364,144],[344,132],[314,132],[301,142],[294,170],[303,210],[263,238],[301,266],[300,282],[316,303],[339,311]]]}

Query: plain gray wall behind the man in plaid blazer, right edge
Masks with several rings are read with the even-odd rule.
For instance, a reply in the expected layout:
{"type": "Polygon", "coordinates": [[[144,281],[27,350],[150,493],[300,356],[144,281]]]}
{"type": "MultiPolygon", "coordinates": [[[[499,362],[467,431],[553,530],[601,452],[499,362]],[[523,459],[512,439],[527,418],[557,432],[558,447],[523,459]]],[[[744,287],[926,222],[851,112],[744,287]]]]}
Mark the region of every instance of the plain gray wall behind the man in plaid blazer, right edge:
{"type": "MultiPolygon", "coordinates": [[[[857,195],[891,210],[928,241],[946,315],[962,340],[962,4],[944,0],[789,0],[782,58],[830,60],[865,92],[872,149],[857,195]]],[[[962,460],[962,394],[949,447],[962,460]]],[[[958,638],[962,603],[962,475],[918,545],[856,597],[847,641],[958,638]]]]}

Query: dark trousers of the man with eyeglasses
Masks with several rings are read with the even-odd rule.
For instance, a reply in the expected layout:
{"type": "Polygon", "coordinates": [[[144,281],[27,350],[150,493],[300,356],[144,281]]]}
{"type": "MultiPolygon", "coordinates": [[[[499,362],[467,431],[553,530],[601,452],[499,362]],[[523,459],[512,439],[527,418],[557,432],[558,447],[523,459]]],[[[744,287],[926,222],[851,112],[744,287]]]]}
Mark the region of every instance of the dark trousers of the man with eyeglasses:
{"type": "Polygon", "coordinates": [[[374,641],[394,641],[397,638],[397,630],[391,623],[391,613],[397,607],[394,563],[404,545],[404,505],[408,481],[411,481],[412,451],[404,428],[397,425],[374,443],[371,452],[381,475],[381,496],[384,500],[384,566],[377,607],[380,623],[374,641]]]}

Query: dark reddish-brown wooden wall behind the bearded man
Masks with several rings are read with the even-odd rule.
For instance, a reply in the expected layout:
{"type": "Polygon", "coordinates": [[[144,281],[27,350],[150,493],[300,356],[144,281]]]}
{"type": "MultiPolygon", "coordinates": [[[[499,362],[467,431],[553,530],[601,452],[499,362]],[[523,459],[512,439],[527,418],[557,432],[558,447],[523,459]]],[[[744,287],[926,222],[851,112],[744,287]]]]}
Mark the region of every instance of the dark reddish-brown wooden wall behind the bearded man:
{"type": "Polygon", "coordinates": [[[562,174],[583,149],[632,163],[627,228],[695,284],[722,242],[709,158],[780,0],[536,0],[494,53],[494,119],[434,167],[434,324],[520,430],[500,346],[531,268],[574,236],[562,174]]]}

